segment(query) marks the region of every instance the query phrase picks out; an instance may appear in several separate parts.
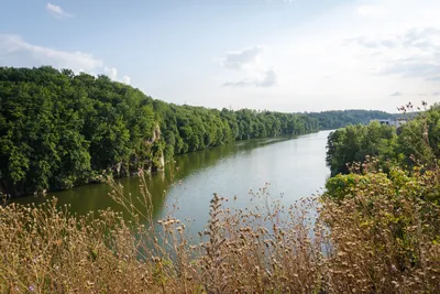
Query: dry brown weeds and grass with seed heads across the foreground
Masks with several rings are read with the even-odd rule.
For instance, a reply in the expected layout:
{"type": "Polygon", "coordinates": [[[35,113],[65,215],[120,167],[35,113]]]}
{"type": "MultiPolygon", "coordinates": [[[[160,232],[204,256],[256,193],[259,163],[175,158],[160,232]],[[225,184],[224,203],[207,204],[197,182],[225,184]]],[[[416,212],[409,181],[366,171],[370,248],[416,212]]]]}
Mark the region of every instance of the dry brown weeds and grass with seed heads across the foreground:
{"type": "Polygon", "coordinates": [[[56,199],[2,206],[0,292],[440,293],[439,175],[367,172],[338,202],[289,207],[268,203],[266,188],[252,209],[213,195],[193,237],[172,217],[153,225],[142,174],[136,207],[108,178],[129,220],[78,217],[56,199]]]}

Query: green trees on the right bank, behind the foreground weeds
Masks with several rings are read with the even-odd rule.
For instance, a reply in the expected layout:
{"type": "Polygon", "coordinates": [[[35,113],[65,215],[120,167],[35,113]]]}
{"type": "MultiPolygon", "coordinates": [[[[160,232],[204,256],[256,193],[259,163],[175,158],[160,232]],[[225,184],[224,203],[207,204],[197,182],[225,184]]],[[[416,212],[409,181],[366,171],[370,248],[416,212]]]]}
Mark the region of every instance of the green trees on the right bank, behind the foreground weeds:
{"type": "MultiPolygon", "coordinates": [[[[411,110],[414,108],[408,105],[411,110]]],[[[406,112],[407,122],[399,128],[380,124],[355,124],[330,133],[327,144],[327,163],[331,174],[348,174],[350,166],[375,157],[385,172],[389,166],[413,168],[416,164],[432,164],[440,156],[440,106],[414,115],[406,112]],[[417,162],[416,162],[417,159],[417,162]]]]}

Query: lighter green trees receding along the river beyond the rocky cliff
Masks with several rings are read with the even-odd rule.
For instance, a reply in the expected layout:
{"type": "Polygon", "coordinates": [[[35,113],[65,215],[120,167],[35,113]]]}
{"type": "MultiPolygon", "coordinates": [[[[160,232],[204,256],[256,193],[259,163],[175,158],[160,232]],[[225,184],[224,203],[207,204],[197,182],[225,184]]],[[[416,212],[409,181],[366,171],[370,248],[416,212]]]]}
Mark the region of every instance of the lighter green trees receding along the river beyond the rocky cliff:
{"type": "Polygon", "coordinates": [[[176,106],[153,102],[166,142],[165,155],[170,157],[235,140],[297,135],[318,131],[318,120],[304,115],[242,109],[176,106]]]}

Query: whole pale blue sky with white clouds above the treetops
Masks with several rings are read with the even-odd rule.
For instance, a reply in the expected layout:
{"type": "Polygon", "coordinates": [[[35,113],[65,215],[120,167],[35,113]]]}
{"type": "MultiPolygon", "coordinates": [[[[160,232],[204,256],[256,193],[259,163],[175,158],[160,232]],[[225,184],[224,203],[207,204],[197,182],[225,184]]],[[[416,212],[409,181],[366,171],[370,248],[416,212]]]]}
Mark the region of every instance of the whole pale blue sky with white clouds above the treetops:
{"type": "Polygon", "coordinates": [[[439,0],[0,0],[0,66],[282,112],[440,99],[439,0]]]}

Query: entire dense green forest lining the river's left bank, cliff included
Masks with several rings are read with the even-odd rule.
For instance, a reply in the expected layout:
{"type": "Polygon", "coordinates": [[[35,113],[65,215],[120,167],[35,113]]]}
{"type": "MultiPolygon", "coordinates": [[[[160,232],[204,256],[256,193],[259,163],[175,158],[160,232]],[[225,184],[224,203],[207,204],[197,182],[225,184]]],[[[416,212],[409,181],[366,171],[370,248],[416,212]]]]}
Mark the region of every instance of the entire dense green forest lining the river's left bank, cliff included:
{"type": "Polygon", "coordinates": [[[242,139],[319,130],[306,115],[155,100],[107,76],[0,68],[0,181],[21,195],[89,183],[103,170],[158,170],[164,157],[242,139]]]}

